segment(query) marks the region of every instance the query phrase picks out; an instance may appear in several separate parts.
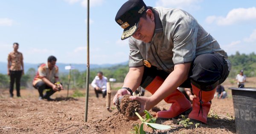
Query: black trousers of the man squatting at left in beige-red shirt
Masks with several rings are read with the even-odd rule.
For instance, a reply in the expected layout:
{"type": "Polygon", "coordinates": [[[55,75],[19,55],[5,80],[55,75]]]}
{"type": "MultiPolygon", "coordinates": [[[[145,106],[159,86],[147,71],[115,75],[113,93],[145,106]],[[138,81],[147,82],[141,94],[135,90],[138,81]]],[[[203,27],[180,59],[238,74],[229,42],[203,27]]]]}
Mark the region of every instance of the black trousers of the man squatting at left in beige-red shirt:
{"type": "Polygon", "coordinates": [[[56,92],[56,91],[52,90],[52,87],[49,87],[43,81],[40,81],[40,82],[36,83],[34,87],[36,89],[38,89],[39,96],[42,97],[42,98],[45,98],[45,99],[48,99],[52,94],[54,94],[56,92]],[[46,94],[43,94],[43,91],[45,89],[49,89],[49,90],[46,91],[46,94]]]}

